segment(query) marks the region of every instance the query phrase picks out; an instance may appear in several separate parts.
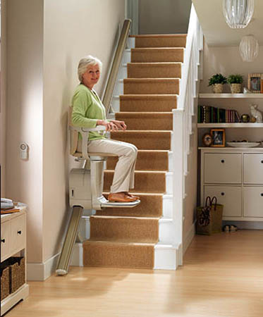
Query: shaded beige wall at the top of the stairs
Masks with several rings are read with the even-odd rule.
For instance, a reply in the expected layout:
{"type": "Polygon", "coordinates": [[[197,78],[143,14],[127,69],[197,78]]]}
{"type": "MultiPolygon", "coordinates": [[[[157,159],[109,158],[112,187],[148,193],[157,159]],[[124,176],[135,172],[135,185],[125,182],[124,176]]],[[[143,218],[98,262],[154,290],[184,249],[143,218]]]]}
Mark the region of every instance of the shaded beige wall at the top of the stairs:
{"type": "Polygon", "coordinates": [[[191,0],[139,0],[139,34],[187,33],[191,0]]]}

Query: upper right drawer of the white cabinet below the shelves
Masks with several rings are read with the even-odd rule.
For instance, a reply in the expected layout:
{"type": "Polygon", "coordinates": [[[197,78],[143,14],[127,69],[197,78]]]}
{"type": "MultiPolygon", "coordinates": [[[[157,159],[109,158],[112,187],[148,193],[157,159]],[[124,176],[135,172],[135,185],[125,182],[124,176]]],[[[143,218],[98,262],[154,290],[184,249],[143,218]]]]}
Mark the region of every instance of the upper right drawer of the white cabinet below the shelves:
{"type": "Polygon", "coordinates": [[[244,183],[263,184],[263,154],[244,154],[244,183]]]}

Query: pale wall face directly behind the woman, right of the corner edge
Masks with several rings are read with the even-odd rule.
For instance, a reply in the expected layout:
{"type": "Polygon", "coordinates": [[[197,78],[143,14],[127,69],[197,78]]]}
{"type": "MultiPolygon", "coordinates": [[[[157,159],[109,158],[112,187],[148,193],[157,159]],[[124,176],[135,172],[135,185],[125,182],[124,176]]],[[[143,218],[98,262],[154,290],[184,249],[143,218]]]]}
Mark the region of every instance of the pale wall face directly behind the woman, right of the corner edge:
{"type": "Polygon", "coordinates": [[[44,164],[43,259],[59,250],[68,218],[68,106],[78,85],[82,56],[102,60],[99,95],[125,18],[123,0],[45,0],[44,6],[44,164]],[[50,235],[50,232],[53,232],[50,235]]]}

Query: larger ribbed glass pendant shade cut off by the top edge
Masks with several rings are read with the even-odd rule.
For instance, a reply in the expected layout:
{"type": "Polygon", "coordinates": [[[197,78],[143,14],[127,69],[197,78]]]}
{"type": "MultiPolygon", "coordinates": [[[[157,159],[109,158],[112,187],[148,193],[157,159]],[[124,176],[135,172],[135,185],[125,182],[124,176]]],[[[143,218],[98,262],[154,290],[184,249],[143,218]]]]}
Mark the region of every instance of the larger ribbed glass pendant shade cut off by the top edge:
{"type": "Polygon", "coordinates": [[[250,23],[255,0],[223,0],[226,23],[232,29],[243,29],[250,23]]]}

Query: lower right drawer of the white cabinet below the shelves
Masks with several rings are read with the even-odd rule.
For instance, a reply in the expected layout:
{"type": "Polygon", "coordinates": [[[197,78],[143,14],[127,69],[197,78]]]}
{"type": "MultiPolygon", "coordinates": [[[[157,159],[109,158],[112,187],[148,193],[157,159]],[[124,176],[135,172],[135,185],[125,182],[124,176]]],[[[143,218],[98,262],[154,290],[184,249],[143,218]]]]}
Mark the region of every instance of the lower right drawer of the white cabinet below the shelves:
{"type": "Polygon", "coordinates": [[[263,187],[244,187],[244,216],[263,218],[263,187]]]}

